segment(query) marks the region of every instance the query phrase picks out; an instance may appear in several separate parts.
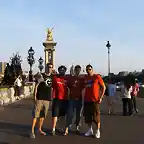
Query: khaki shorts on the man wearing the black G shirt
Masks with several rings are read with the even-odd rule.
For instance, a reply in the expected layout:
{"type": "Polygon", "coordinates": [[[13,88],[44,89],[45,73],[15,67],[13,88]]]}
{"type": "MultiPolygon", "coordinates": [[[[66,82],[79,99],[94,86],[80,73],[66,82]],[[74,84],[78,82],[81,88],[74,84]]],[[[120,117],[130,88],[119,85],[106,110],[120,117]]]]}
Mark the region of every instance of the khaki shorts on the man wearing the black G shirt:
{"type": "Polygon", "coordinates": [[[49,110],[49,101],[37,100],[34,105],[33,117],[46,117],[49,110]]]}

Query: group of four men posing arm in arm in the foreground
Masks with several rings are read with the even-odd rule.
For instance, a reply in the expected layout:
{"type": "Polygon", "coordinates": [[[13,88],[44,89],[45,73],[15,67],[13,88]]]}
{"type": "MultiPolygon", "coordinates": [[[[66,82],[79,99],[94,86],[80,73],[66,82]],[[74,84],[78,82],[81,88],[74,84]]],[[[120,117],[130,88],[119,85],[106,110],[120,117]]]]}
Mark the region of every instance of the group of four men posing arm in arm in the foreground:
{"type": "MultiPolygon", "coordinates": [[[[53,65],[47,64],[47,73],[42,73],[34,91],[34,109],[31,138],[35,138],[35,126],[39,119],[38,130],[42,135],[43,121],[47,116],[49,104],[52,101],[52,135],[55,135],[59,119],[65,120],[64,136],[68,135],[72,125],[74,111],[76,110],[76,133],[80,133],[81,116],[85,117],[85,123],[89,129],[85,136],[100,138],[100,108],[99,105],[105,93],[105,84],[100,75],[95,74],[93,67],[86,66],[87,75],[80,76],[81,66],[76,65],[74,76],[66,76],[67,68],[62,65],[58,68],[58,74],[52,74],[53,65]],[[93,132],[92,123],[97,130],[93,132]]],[[[62,130],[62,129],[61,129],[62,130]]]]}

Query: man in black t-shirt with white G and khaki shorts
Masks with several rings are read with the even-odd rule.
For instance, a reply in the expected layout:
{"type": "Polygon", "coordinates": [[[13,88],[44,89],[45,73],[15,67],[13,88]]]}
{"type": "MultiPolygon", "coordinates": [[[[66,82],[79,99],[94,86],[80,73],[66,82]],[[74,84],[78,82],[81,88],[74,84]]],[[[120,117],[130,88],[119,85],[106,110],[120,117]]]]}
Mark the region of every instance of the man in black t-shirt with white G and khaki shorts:
{"type": "Polygon", "coordinates": [[[47,64],[48,73],[42,73],[42,77],[39,79],[38,84],[35,86],[34,91],[34,109],[33,109],[33,121],[31,138],[35,138],[34,128],[39,118],[39,132],[42,135],[46,133],[42,130],[42,125],[45,117],[47,116],[49,103],[52,97],[52,70],[53,65],[51,63],[47,64]]]}

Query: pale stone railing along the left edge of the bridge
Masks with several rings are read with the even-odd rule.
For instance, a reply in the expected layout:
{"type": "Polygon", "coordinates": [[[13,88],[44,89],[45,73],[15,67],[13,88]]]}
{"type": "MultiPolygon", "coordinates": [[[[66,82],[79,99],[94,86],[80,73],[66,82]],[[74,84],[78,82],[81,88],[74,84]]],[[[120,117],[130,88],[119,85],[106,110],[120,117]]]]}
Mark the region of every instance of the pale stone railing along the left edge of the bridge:
{"type": "MultiPolygon", "coordinates": [[[[34,84],[27,84],[24,86],[24,92],[20,96],[20,99],[32,96],[34,91],[34,84]]],[[[16,101],[15,90],[13,87],[0,86],[0,105],[11,104],[16,101]]]]}

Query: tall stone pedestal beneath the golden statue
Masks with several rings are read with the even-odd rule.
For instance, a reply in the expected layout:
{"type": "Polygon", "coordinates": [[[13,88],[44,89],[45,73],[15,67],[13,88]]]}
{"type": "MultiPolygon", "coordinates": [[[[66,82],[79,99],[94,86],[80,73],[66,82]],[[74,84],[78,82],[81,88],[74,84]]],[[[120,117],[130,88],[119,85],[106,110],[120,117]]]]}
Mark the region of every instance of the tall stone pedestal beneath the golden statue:
{"type": "Polygon", "coordinates": [[[45,41],[43,42],[43,46],[45,47],[45,72],[47,72],[47,63],[52,63],[55,68],[55,46],[56,42],[54,41],[45,41]]]}

